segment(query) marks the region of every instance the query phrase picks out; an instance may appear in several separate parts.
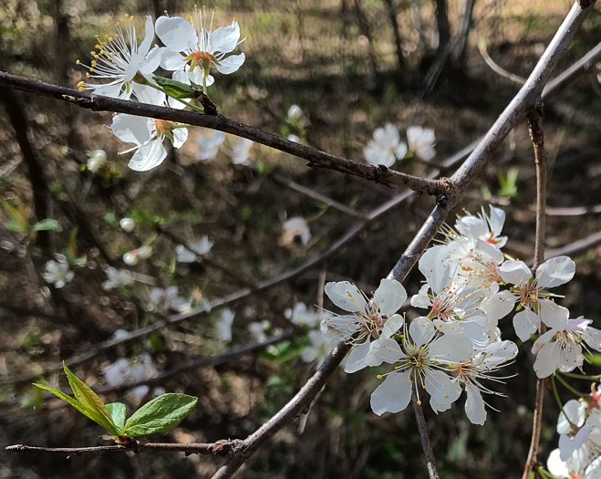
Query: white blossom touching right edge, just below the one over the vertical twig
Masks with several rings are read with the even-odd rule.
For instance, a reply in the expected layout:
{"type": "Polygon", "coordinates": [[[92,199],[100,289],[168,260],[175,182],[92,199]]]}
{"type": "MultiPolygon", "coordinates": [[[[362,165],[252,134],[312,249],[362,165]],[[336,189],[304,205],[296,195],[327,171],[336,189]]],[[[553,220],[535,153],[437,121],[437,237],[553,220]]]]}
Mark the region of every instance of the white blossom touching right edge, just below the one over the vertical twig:
{"type": "Polygon", "coordinates": [[[569,372],[581,368],[585,360],[583,342],[591,349],[601,350],[601,331],[592,328],[592,322],[583,318],[555,318],[553,325],[547,325],[550,329],[534,341],[532,349],[536,354],[536,376],[547,378],[555,370],[569,372]]]}

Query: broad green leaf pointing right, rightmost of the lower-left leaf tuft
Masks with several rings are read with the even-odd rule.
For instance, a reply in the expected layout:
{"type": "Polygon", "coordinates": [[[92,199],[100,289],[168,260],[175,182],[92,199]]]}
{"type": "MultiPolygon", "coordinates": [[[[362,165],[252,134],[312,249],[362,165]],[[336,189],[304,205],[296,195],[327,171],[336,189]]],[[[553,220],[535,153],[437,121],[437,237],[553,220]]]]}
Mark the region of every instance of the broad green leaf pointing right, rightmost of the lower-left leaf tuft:
{"type": "Polygon", "coordinates": [[[130,436],[170,432],[196,405],[198,398],[185,394],[163,394],[134,412],[123,430],[130,436]]]}

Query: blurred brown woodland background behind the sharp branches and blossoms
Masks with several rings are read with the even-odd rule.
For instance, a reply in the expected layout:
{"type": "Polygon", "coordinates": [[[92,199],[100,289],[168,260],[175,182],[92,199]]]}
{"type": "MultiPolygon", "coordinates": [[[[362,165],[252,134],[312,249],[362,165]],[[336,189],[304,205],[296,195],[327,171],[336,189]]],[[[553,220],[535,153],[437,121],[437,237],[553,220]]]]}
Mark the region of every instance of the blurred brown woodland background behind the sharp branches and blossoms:
{"type": "MultiPolygon", "coordinates": [[[[487,44],[484,55],[526,78],[571,5],[565,0],[466,0],[450,2],[444,12],[440,5],[445,3],[438,4],[437,13],[437,4],[428,0],[214,2],[207,5],[216,9],[213,25],[230,25],[235,17],[248,38],[236,50],[246,55],[243,67],[229,76],[215,74],[209,96],[234,120],[284,137],[295,135],[302,143],[355,161],[364,161],[363,149],[373,131],[388,122],[401,138],[410,125],[432,129],[432,160],[414,156],[394,166],[428,175],[488,130],[519,89],[486,64],[480,40],[487,44]],[[300,112],[290,109],[293,105],[300,112]]],[[[75,88],[86,79],[86,69],[76,60],[89,64],[95,36],[109,30],[108,16],[136,16],[141,34],[145,16],[156,18],[164,10],[185,16],[193,8],[192,2],[169,0],[4,0],[0,68],[75,88]]],[[[556,73],[584,56],[600,37],[597,7],[556,73]]],[[[599,230],[600,71],[592,65],[545,104],[548,248],[570,245],[599,230]]],[[[171,149],[160,167],[132,172],[128,155],[117,154],[127,146],[102,126],[110,124],[109,113],[6,89],[0,92],[0,112],[3,449],[14,443],[102,443],[98,426],[61,401],[45,399],[31,383],[64,388],[62,372],[42,373],[110,338],[303,266],[327,252],[357,222],[365,222],[366,214],[402,193],[309,169],[305,161],[256,144],[248,160],[236,164],[232,156],[237,140],[230,135],[216,155],[199,159],[197,141],[205,139],[201,143],[206,144],[212,138],[212,131],[200,128],[190,129],[186,144],[171,149]],[[107,160],[95,172],[87,151],[96,150],[106,151],[107,160]],[[133,220],[132,231],[119,224],[122,218],[133,220]],[[55,221],[43,221],[48,219],[55,221]],[[286,223],[291,219],[295,221],[286,223]],[[151,246],[150,257],[141,257],[143,245],[151,246]],[[179,245],[209,250],[193,255],[179,245]],[[137,265],[123,261],[131,252],[140,255],[137,265]],[[57,259],[57,254],[63,256],[57,259]],[[63,287],[47,279],[52,276],[49,269],[60,267],[59,259],[74,273],[63,287]],[[57,266],[48,266],[51,260],[57,266]],[[116,279],[109,267],[130,273],[116,279]]],[[[472,213],[487,203],[502,207],[507,213],[503,232],[510,238],[504,251],[529,260],[534,255],[534,200],[534,154],[523,123],[495,152],[461,205],[472,213]]],[[[320,345],[308,326],[298,326],[315,316],[303,313],[302,307],[286,315],[286,309],[303,303],[317,318],[315,305],[334,309],[321,295],[325,281],[351,280],[365,291],[375,290],[432,206],[430,197],[414,195],[301,274],[232,301],[230,311],[215,307],[158,328],[103,349],[72,370],[95,390],[108,390],[102,396],[106,402],[124,401],[129,411],[163,390],[199,397],[198,406],[176,430],[153,441],[244,439],[315,370],[318,352],[312,356],[307,351],[320,345]],[[291,336],[267,349],[181,371],[190,361],[286,333],[291,336]],[[160,379],[140,384],[164,371],[168,373],[160,379]],[[128,386],[136,381],[136,388],[128,386]]],[[[573,255],[575,279],[558,288],[571,318],[593,318],[597,328],[600,254],[594,244],[573,255]]],[[[417,269],[409,275],[409,296],[417,293],[421,279],[417,269]]],[[[417,316],[410,307],[405,310],[417,316]]],[[[503,338],[517,340],[511,319],[501,328],[503,338]]],[[[518,345],[520,355],[508,368],[517,376],[506,385],[494,385],[508,397],[487,398],[499,411],[489,410],[484,427],[466,419],[463,399],[438,416],[426,408],[442,477],[521,476],[535,381],[532,345],[518,345]]],[[[601,372],[595,364],[586,371],[601,372]]],[[[425,476],[412,413],[378,418],[370,411],[369,396],[377,384],[374,370],[348,375],[340,369],[308,415],[277,433],[238,475],[425,476]]],[[[574,385],[584,391],[589,387],[582,381],[574,385]]],[[[557,443],[558,408],[551,394],[546,400],[543,462],[557,443]]],[[[49,453],[1,453],[0,476],[210,477],[221,463],[221,458],[181,453],[106,453],[68,460],[49,453]]]]}

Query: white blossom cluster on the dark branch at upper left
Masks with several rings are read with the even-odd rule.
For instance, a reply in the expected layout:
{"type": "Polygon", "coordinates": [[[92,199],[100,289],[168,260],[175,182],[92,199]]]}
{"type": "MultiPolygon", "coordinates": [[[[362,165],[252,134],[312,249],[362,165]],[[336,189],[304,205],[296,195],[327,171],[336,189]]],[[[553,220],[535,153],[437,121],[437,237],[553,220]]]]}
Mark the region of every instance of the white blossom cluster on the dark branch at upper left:
{"type": "MultiPolygon", "coordinates": [[[[194,15],[186,18],[161,16],[156,24],[147,16],[141,43],[134,16],[126,14],[118,21],[109,17],[111,28],[104,36],[96,36],[96,49],[91,52],[93,59],[90,65],[78,60],[78,65],[88,70],[86,78],[101,82],[80,81],[78,88],[111,98],[135,98],[143,103],[174,109],[187,106],[200,109],[200,106],[192,104],[193,101],[189,103],[185,99],[192,99],[195,89],[206,93],[215,81],[212,69],[229,75],[237,71],[245,59],[244,53],[233,54],[233,50],[244,41],[238,22],[234,19],[230,26],[213,30],[213,16],[214,12],[209,16],[204,7],[195,8],[194,15]],[[153,46],[155,34],[163,47],[153,46]],[[158,68],[171,72],[171,78],[155,77],[158,68]],[[167,84],[171,89],[164,88],[167,84]]],[[[184,124],[124,113],[114,116],[111,130],[119,140],[134,144],[123,152],[135,151],[129,166],[137,172],[146,172],[165,160],[165,140],[169,139],[174,148],[181,148],[188,138],[184,124]]],[[[249,149],[248,141],[237,146],[237,151],[233,151],[234,161],[246,161],[249,149]]],[[[102,159],[93,159],[89,169],[98,171],[102,162],[102,159]]]]}

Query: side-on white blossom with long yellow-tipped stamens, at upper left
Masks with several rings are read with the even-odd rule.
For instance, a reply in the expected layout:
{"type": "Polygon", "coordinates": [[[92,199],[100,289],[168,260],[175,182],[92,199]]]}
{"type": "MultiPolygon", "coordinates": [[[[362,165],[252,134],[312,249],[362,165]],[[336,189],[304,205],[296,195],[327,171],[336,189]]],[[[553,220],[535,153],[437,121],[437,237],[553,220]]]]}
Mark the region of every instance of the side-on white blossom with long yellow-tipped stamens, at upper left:
{"type": "MultiPolygon", "coordinates": [[[[109,22],[112,22],[111,17],[109,22]]],[[[144,85],[161,62],[160,48],[155,46],[150,49],[154,39],[152,18],[146,17],[146,34],[140,46],[133,16],[126,14],[120,21],[113,23],[113,26],[114,30],[104,37],[96,36],[98,52],[91,52],[94,59],[90,66],[85,66],[78,60],[78,65],[89,70],[86,77],[108,79],[109,83],[97,85],[80,81],[78,89],[89,89],[97,95],[115,99],[130,99],[133,94],[145,103],[161,105],[165,94],[144,85]],[[136,78],[139,73],[142,78],[136,78]]]]}

